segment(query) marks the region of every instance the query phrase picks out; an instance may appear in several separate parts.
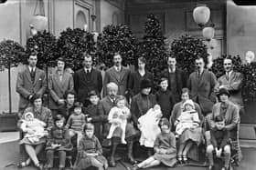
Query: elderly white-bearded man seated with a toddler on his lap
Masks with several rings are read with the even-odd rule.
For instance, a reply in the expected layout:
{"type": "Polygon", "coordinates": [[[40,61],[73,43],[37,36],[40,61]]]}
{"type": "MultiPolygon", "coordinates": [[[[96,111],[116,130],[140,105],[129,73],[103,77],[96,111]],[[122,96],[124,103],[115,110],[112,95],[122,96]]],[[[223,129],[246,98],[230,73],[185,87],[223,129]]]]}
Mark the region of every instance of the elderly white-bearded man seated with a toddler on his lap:
{"type": "MultiPolygon", "coordinates": [[[[103,138],[106,139],[106,136],[109,134],[110,126],[111,124],[108,123],[108,115],[110,113],[110,110],[113,106],[115,106],[115,100],[117,98],[117,92],[118,92],[118,85],[111,82],[106,85],[107,88],[107,95],[102,98],[99,107],[98,112],[99,116],[101,116],[101,121],[103,124],[103,138]]],[[[125,128],[125,141],[127,142],[128,147],[128,159],[131,164],[136,163],[136,161],[133,159],[133,141],[134,137],[137,135],[135,128],[130,121],[127,122],[126,128],[125,128]]],[[[115,166],[115,160],[114,155],[116,153],[117,145],[121,144],[121,137],[123,135],[123,130],[121,127],[115,128],[115,130],[112,133],[111,138],[111,155],[110,155],[110,166],[115,166]]],[[[104,140],[107,141],[107,140],[104,140]]],[[[103,141],[102,145],[105,145],[103,141]]]]}

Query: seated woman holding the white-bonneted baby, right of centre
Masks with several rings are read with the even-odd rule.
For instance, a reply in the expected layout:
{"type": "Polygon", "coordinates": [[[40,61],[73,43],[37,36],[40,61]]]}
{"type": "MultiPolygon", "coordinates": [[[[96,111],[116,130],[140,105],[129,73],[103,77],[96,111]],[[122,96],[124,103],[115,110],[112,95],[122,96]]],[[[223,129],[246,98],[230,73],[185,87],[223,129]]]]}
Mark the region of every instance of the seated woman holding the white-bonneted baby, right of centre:
{"type": "MultiPolygon", "coordinates": [[[[170,117],[170,123],[172,125],[172,130],[176,130],[176,120],[178,120],[178,117],[181,115],[183,111],[183,105],[189,100],[189,90],[187,88],[182,89],[182,95],[181,95],[182,101],[177,103],[172,111],[172,115],[170,117]]],[[[203,120],[203,115],[201,114],[200,106],[193,102],[194,110],[198,115],[199,121],[197,120],[197,123],[200,124],[203,120]]],[[[185,129],[181,135],[178,136],[177,145],[178,145],[178,160],[179,162],[187,162],[187,155],[189,150],[194,144],[199,145],[201,143],[202,139],[202,128],[200,126],[197,126],[195,128],[188,128],[185,129]]],[[[191,150],[192,151],[196,150],[191,150]]],[[[190,159],[197,160],[196,155],[190,155],[190,159]]]]}

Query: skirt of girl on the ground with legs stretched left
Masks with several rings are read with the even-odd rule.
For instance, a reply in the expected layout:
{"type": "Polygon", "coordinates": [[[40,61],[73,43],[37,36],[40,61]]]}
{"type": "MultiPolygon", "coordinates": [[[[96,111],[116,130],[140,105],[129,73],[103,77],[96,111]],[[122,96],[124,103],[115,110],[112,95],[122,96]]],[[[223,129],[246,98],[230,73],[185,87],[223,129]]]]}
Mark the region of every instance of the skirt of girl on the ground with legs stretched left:
{"type": "Polygon", "coordinates": [[[176,165],[176,152],[168,155],[155,153],[153,157],[166,166],[173,167],[174,165],[176,165]]]}

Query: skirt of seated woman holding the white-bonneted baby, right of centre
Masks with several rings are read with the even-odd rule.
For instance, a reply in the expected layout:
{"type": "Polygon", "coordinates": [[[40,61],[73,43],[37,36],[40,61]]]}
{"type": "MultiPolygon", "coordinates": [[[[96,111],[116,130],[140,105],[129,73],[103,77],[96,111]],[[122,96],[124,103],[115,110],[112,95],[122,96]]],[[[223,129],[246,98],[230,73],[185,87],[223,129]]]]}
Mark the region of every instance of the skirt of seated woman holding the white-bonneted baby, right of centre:
{"type": "Polygon", "coordinates": [[[202,141],[202,128],[197,127],[193,129],[187,129],[183,132],[182,135],[179,137],[179,144],[184,144],[187,142],[187,140],[191,140],[195,142],[197,145],[199,145],[202,141]]]}

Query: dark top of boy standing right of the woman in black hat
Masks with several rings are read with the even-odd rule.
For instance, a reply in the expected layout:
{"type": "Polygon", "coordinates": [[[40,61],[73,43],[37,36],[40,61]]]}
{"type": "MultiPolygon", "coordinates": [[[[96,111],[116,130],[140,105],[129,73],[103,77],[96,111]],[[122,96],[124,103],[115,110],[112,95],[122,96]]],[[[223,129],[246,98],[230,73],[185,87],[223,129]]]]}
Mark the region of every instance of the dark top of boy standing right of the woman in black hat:
{"type": "Polygon", "coordinates": [[[163,117],[169,120],[173,106],[176,104],[174,94],[166,89],[165,91],[160,89],[155,94],[157,103],[161,106],[163,117]]]}

